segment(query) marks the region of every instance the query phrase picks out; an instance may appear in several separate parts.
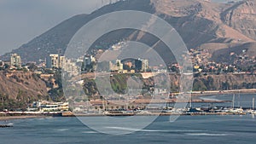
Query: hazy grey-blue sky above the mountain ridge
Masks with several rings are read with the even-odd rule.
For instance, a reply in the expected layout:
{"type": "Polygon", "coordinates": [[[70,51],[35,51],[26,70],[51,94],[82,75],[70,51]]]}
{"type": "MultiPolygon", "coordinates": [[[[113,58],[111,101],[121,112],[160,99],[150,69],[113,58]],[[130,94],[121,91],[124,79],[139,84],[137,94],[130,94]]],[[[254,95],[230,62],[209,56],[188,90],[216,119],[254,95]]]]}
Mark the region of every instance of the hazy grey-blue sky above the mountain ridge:
{"type": "Polygon", "coordinates": [[[90,14],[102,7],[102,1],[104,4],[109,0],[0,0],[0,55],[19,48],[62,20],[90,14]]]}

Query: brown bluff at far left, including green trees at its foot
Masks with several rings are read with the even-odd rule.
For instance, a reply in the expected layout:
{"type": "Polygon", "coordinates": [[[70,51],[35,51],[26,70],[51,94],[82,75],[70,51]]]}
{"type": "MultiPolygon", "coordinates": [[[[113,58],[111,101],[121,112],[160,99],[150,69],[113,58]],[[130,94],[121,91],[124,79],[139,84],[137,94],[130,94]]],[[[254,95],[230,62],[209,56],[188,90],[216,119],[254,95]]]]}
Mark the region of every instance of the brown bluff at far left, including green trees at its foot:
{"type": "Polygon", "coordinates": [[[45,82],[32,72],[0,72],[0,110],[25,110],[33,101],[49,99],[45,82]]]}

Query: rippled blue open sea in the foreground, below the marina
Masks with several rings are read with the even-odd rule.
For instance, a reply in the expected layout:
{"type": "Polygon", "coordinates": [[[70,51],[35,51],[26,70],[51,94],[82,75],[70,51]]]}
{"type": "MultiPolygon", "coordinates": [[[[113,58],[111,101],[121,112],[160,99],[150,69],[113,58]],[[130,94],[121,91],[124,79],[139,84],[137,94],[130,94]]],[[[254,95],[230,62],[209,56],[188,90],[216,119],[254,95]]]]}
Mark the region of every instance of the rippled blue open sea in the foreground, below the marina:
{"type": "MultiPolygon", "coordinates": [[[[11,120],[0,129],[1,144],[254,144],[256,119],[244,116],[181,116],[170,123],[159,117],[130,135],[107,135],[90,130],[77,118],[11,120]]],[[[136,123],[136,122],[135,122],[136,123]]],[[[129,130],[129,128],[113,128],[129,130]]]]}

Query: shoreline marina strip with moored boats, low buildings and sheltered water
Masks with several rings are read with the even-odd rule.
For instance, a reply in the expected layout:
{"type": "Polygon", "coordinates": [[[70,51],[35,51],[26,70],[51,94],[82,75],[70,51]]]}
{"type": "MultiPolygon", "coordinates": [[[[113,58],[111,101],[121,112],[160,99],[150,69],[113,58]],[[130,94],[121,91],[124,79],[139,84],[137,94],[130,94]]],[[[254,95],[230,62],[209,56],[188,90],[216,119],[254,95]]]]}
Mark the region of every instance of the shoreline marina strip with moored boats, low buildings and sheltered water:
{"type": "MultiPolygon", "coordinates": [[[[194,97],[194,96],[193,96],[194,97]]],[[[191,97],[192,98],[192,97],[191,97]]],[[[101,102],[100,102],[101,103],[101,102]]],[[[147,103],[143,103],[146,105],[147,103]]],[[[157,104],[157,103],[156,103],[157,104]]],[[[0,117],[117,117],[117,116],[172,116],[172,115],[246,115],[256,114],[254,94],[237,94],[237,95],[210,95],[210,96],[196,96],[191,99],[188,104],[183,104],[183,108],[175,107],[175,102],[155,105],[154,107],[130,107],[119,109],[90,109],[70,112],[67,110],[67,103],[58,105],[42,105],[44,108],[36,107],[35,103],[32,107],[40,111],[26,111],[26,112],[0,112],[0,117]],[[251,101],[250,101],[251,100],[251,101]],[[52,108],[52,111],[46,111],[45,107],[52,108]],[[53,107],[54,106],[54,107],[53,107]],[[62,106],[65,106],[65,111],[61,111],[62,106]],[[56,110],[56,111],[53,111],[56,110]]],[[[49,109],[48,108],[48,109],[49,109]]],[[[29,109],[29,108],[28,108],[29,109]]],[[[31,109],[31,108],[30,108],[31,109]]]]}

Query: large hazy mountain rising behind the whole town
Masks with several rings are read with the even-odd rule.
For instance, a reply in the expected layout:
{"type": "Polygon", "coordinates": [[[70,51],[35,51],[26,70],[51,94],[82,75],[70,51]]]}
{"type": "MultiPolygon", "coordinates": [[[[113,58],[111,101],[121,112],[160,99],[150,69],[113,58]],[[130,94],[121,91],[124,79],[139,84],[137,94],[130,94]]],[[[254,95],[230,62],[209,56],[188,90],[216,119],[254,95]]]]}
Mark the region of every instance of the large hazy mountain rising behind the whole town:
{"type": "MultiPolygon", "coordinates": [[[[79,14],[63,21],[41,36],[23,44],[12,53],[21,55],[23,61],[38,61],[50,53],[64,54],[67,43],[73,34],[88,21],[118,10],[140,10],[157,14],[169,22],[183,37],[189,49],[204,48],[210,45],[212,54],[223,54],[224,60],[229,59],[228,52],[239,54],[246,46],[247,55],[252,56],[256,51],[253,46],[256,40],[256,0],[237,3],[211,3],[204,0],[125,0],[109,4],[91,14],[79,14]],[[218,47],[221,46],[221,47],[218,47]],[[225,50],[229,49],[229,50],[225,50]],[[224,53],[222,53],[224,50],[224,53]]],[[[154,45],[154,49],[165,54],[166,46],[159,43],[158,38],[143,32],[120,30],[105,34],[99,38],[91,49],[108,49],[112,43],[121,39],[136,40],[154,45]]],[[[170,53],[162,55],[166,62],[170,62],[170,53]]],[[[216,56],[212,60],[216,59],[216,56]]],[[[9,54],[1,59],[8,59],[9,54]]],[[[172,59],[171,59],[172,61],[172,59]]]]}

